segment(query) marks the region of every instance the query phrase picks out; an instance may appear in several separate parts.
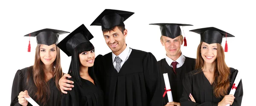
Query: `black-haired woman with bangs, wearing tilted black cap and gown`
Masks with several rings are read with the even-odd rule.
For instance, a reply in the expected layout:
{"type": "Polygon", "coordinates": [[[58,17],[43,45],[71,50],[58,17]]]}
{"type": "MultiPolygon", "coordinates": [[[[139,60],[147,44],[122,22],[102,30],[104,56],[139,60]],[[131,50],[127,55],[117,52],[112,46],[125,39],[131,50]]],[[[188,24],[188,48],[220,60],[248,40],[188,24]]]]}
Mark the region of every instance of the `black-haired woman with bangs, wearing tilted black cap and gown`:
{"type": "Polygon", "coordinates": [[[104,106],[103,92],[95,77],[93,64],[94,46],[90,43],[93,35],[82,24],[65,37],[57,46],[71,56],[68,74],[74,83],[61,100],[61,106],[104,106]]]}

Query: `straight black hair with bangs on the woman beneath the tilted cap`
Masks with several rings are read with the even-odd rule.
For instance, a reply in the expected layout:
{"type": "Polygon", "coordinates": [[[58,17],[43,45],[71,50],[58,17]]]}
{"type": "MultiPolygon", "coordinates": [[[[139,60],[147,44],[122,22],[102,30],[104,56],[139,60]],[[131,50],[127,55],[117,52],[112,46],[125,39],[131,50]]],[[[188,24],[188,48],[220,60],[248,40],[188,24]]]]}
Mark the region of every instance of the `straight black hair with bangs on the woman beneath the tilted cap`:
{"type": "MultiPolygon", "coordinates": [[[[80,63],[80,59],[79,59],[79,54],[81,54],[82,52],[91,51],[93,49],[94,49],[93,44],[90,42],[87,42],[87,43],[79,44],[73,50],[73,53],[71,56],[70,68],[69,68],[69,72],[67,74],[72,74],[80,86],[82,86],[82,82],[81,82],[81,78],[80,78],[81,63],[80,63]]],[[[89,75],[91,77],[95,78],[94,74],[92,72],[93,72],[93,67],[88,67],[89,75]]]]}

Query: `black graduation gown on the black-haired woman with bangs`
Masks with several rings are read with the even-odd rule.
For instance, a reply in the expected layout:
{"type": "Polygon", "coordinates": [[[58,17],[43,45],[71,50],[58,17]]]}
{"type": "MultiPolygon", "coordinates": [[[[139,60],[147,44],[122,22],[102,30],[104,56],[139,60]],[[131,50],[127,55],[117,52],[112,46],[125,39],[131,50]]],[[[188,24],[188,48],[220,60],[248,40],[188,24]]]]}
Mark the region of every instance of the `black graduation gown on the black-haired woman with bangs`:
{"type": "Polygon", "coordinates": [[[94,78],[95,85],[80,77],[82,82],[80,86],[72,74],[71,76],[68,80],[74,81],[74,88],[63,94],[61,106],[104,106],[103,91],[94,78]]]}

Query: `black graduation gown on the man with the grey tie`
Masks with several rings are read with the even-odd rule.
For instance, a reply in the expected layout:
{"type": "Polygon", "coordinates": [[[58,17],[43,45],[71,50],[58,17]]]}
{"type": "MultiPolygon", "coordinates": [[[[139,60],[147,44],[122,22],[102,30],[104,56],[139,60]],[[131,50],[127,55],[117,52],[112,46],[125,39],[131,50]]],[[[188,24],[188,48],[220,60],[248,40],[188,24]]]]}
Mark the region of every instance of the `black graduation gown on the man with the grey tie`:
{"type": "Polygon", "coordinates": [[[150,52],[132,49],[119,73],[112,53],[97,56],[94,64],[105,93],[105,106],[162,106],[157,60],[150,52]]]}

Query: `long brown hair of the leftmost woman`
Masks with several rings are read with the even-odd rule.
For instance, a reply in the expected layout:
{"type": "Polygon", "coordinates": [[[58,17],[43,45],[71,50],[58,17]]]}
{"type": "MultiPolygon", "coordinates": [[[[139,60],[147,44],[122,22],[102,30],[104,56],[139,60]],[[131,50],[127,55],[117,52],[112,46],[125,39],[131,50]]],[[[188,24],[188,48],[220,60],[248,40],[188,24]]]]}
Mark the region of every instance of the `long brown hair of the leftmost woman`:
{"type": "MultiPolygon", "coordinates": [[[[34,80],[36,90],[32,89],[35,93],[36,101],[39,101],[44,106],[47,105],[47,100],[49,99],[50,95],[50,89],[49,84],[47,83],[47,77],[44,73],[44,63],[41,61],[40,57],[40,47],[42,44],[38,44],[35,49],[35,63],[33,66],[31,66],[29,69],[32,69],[32,71],[28,70],[28,77],[26,82],[29,82],[29,77],[32,75],[32,78],[34,80]]],[[[55,44],[56,45],[56,44],[55,44]]],[[[55,85],[59,91],[61,91],[58,81],[63,76],[62,69],[61,69],[61,57],[60,57],[60,49],[56,46],[56,59],[53,62],[52,70],[53,70],[53,78],[55,80],[55,85]]]]}

